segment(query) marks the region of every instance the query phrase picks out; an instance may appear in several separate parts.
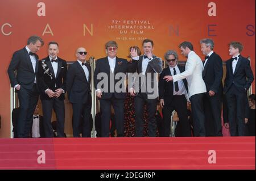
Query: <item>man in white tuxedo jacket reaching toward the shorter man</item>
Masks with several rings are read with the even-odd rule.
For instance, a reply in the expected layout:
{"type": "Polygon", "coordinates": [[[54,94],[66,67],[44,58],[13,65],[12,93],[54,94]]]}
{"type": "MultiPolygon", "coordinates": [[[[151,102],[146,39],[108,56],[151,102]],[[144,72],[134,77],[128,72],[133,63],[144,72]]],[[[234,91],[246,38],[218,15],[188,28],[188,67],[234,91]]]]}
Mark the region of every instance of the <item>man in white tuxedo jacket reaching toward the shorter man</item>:
{"type": "Polygon", "coordinates": [[[181,54],[187,57],[185,71],[174,76],[167,75],[164,79],[168,81],[179,81],[180,79],[187,79],[188,82],[188,96],[191,100],[192,115],[194,120],[194,136],[205,136],[205,117],[203,98],[207,92],[203,77],[203,62],[201,58],[193,51],[193,45],[184,41],[179,45],[181,54]]]}

